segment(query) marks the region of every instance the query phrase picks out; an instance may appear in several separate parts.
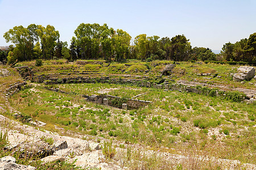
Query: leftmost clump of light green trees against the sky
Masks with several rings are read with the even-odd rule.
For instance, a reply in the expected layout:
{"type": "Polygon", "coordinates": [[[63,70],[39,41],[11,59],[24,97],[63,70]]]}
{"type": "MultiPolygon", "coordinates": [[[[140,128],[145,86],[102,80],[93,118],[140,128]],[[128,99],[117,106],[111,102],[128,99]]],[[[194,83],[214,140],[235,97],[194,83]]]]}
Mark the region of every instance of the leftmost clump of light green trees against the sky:
{"type": "Polygon", "coordinates": [[[36,58],[51,59],[55,53],[59,31],[51,25],[30,24],[27,28],[22,25],[9,29],[3,37],[6,42],[13,42],[7,56],[8,62],[27,61],[36,58]],[[40,42],[39,42],[40,41],[40,42]]]}

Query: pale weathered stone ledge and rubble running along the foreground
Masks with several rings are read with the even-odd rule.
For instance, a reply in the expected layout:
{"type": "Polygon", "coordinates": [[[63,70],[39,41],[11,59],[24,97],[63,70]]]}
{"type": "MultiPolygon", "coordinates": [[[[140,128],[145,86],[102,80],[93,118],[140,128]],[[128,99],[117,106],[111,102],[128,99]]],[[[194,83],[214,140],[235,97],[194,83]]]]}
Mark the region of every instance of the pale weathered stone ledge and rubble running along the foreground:
{"type": "MultiPolygon", "coordinates": [[[[123,167],[124,164],[122,163],[121,157],[118,156],[126,153],[126,149],[117,147],[117,156],[114,157],[112,162],[106,162],[106,158],[102,154],[101,143],[86,141],[80,138],[60,136],[59,134],[53,134],[46,130],[40,131],[31,126],[21,125],[18,122],[9,120],[0,114],[0,122],[7,121],[10,121],[10,124],[14,125],[15,129],[10,130],[0,127],[0,131],[7,131],[10,142],[9,147],[7,147],[9,150],[19,149],[20,151],[23,151],[24,148],[30,147],[32,148],[30,154],[41,155],[41,160],[43,162],[68,160],[70,163],[73,163],[76,160],[75,165],[82,168],[129,169],[127,167],[123,167]],[[43,140],[44,138],[52,138],[54,142],[52,145],[49,145],[49,143],[43,140]]],[[[102,139],[102,141],[105,140],[106,139],[102,139]]],[[[125,146],[127,147],[126,144],[125,146]]],[[[188,156],[147,150],[141,145],[130,145],[130,147],[132,147],[133,150],[141,150],[144,155],[157,155],[174,164],[180,164],[189,160],[188,156]]],[[[200,159],[200,157],[198,159],[200,159]]],[[[240,165],[245,168],[256,169],[256,165],[241,164],[238,160],[216,159],[216,162],[224,165],[224,167],[229,167],[229,169],[236,169],[236,167],[239,167],[240,165]]],[[[14,158],[2,158],[0,160],[0,167],[2,168],[6,166],[9,166],[9,169],[35,169],[34,167],[15,164],[14,158]]]]}

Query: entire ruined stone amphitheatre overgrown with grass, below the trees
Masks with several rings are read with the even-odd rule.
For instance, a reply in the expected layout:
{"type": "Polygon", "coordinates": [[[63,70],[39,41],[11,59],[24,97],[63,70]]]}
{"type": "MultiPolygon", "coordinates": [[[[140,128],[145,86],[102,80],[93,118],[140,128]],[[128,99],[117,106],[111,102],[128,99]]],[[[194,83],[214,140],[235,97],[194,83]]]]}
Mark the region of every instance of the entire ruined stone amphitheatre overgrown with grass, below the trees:
{"type": "Polygon", "coordinates": [[[0,67],[0,169],[256,169],[253,66],[0,67]]]}

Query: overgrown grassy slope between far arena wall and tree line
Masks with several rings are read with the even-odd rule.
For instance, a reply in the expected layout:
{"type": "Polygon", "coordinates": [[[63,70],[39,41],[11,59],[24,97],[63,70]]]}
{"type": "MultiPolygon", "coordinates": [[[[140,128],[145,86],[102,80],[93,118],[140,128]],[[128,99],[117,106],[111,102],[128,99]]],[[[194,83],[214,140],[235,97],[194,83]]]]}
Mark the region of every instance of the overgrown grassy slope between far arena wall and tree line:
{"type": "MultiPolygon", "coordinates": [[[[35,67],[35,61],[31,62],[21,62],[19,66],[28,65],[35,72],[35,75],[41,74],[67,74],[71,72],[96,72],[103,75],[118,75],[120,77],[131,74],[131,75],[141,75],[148,76],[148,78],[154,78],[156,75],[161,75],[162,70],[165,65],[172,63],[172,61],[153,61],[150,63],[131,60],[126,63],[106,63],[105,61],[84,61],[86,65],[77,65],[76,63],[65,63],[65,60],[57,61],[44,61],[43,66],[35,67]],[[137,71],[136,71],[137,70],[137,71]],[[148,73],[145,71],[148,70],[148,73]]],[[[81,63],[81,62],[79,62],[81,63]]],[[[224,86],[232,87],[242,87],[242,88],[253,88],[255,90],[254,84],[255,79],[250,81],[245,81],[245,84],[240,82],[234,82],[232,79],[232,74],[236,73],[238,65],[221,65],[216,63],[200,64],[191,62],[180,62],[176,65],[174,69],[174,74],[172,74],[172,80],[189,80],[202,82],[206,84],[222,84],[224,86]],[[184,72],[184,73],[183,73],[184,72]],[[181,74],[182,73],[182,74],[181,74]],[[221,78],[212,76],[198,76],[201,73],[211,73],[212,75],[220,75],[221,78]],[[213,79],[206,79],[213,78],[213,79]]],[[[167,76],[163,76],[167,81],[170,79],[167,76]]],[[[171,81],[170,81],[171,83],[171,81]]]]}

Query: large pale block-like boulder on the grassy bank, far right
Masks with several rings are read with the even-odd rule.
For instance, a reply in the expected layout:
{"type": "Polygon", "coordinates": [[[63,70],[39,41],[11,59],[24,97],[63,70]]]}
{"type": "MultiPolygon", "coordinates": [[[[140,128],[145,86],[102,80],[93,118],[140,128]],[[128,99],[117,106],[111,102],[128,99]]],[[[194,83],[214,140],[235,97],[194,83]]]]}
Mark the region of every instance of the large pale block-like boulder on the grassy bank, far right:
{"type": "Polygon", "coordinates": [[[241,66],[237,69],[238,73],[233,75],[233,80],[240,82],[242,80],[250,80],[254,77],[254,67],[241,66]]]}

